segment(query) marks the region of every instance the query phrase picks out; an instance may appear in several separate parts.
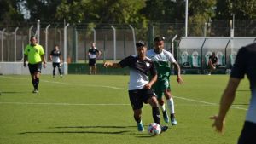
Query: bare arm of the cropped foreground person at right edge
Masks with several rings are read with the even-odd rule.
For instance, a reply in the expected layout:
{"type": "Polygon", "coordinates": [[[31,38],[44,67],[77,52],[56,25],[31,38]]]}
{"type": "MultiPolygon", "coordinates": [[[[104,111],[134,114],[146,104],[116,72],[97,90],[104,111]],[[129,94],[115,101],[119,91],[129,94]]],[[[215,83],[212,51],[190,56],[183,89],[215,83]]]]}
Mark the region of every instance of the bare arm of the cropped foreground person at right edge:
{"type": "Polygon", "coordinates": [[[236,96],[236,89],[240,83],[241,79],[238,78],[230,78],[230,81],[224,90],[224,94],[220,100],[220,106],[217,116],[212,116],[214,119],[214,123],[212,127],[216,127],[216,131],[223,132],[224,131],[224,118],[227,112],[230,109],[231,104],[233,103],[236,96]]]}

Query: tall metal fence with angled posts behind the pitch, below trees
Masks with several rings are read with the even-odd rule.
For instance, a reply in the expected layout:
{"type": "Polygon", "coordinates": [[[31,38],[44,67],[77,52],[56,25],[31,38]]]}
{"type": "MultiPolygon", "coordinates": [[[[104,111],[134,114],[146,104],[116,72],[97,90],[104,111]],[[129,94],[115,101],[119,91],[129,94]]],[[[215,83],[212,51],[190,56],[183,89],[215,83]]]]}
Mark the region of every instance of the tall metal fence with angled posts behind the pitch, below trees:
{"type": "MultiPolygon", "coordinates": [[[[172,39],[180,40],[184,35],[183,22],[171,24],[150,24],[148,27],[129,25],[79,24],[26,24],[26,26],[0,28],[0,61],[20,61],[23,49],[29,43],[29,37],[38,36],[38,43],[43,45],[47,60],[55,44],[60,45],[61,53],[67,62],[86,62],[90,43],[95,42],[102,51],[101,60],[120,60],[127,55],[135,55],[135,42],[139,39],[148,42],[153,48],[154,36],[166,37],[166,49],[171,49],[172,39]],[[92,28],[88,28],[92,27],[92,28]]],[[[235,37],[254,37],[256,21],[236,20],[235,37]]],[[[188,36],[191,37],[230,37],[230,20],[212,21],[211,23],[189,24],[188,36]]],[[[214,43],[214,42],[212,42],[214,43]]]]}

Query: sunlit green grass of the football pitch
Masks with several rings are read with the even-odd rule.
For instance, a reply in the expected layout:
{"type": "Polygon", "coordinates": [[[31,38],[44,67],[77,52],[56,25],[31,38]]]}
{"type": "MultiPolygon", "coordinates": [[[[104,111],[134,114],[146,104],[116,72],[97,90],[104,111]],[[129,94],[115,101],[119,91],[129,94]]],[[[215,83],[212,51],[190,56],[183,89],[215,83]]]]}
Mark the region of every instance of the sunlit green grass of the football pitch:
{"type": "MultiPolygon", "coordinates": [[[[236,143],[245,118],[250,90],[241,81],[226,119],[224,135],[212,129],[209,119],[227,75],[184,75],[178,85],[172,76],[178,124],[160,136],[137,132],[127,94],[128,76],[42,75],[39,93],[32,94],[29,76],[0,76],[1,144],[231,144],[236,143]],[[241,109],[239,109],[241,108],[241,109]]],[[[143,123],[153,122],[143,107],[143,123]]],[[[162,120],[162,124],[164,124],[162,120]]]]}

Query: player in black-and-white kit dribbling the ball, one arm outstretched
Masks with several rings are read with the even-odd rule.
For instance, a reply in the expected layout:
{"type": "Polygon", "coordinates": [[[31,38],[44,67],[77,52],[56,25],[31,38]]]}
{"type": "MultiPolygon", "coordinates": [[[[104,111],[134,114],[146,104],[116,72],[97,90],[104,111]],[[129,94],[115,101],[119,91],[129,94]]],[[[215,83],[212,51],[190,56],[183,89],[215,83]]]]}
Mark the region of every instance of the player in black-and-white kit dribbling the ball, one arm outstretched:
{"type": "MultiPolygon", "coordinates": [[[[137,55],[131,55],[121,60],[119,63],[105,62],[104,66],[113,68],[130,67],[129,98],[133,109],[133,116],[137,122],[137,130],[143,131],[142,108],[143,102],[149,103],[152,107],[154,123],[160,124],[160,111],[157,99],[154,95],[152,84],[157,79],[154,62],[146,57],[147,47],[143,41],[136,43],[137,55]],[[149,81],[148,76],[152,75],[149,81]]],[[[161,127],[166,131],[167,126],[161,127]]]]}

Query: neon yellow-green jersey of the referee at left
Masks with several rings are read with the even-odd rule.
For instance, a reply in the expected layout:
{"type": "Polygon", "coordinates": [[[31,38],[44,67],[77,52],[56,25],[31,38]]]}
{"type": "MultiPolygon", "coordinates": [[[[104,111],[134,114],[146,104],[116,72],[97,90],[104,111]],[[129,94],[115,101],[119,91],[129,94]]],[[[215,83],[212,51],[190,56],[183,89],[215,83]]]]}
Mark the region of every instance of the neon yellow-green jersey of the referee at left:
{"type": "Polygon", "coordinates": [[[24,55],[27,55],[28,63],[36,64],[42,61],[41,55],[44,55],[44,49],[39,44],[36,44],[35,46],[28,44],[24,51],[24,55]]]}

